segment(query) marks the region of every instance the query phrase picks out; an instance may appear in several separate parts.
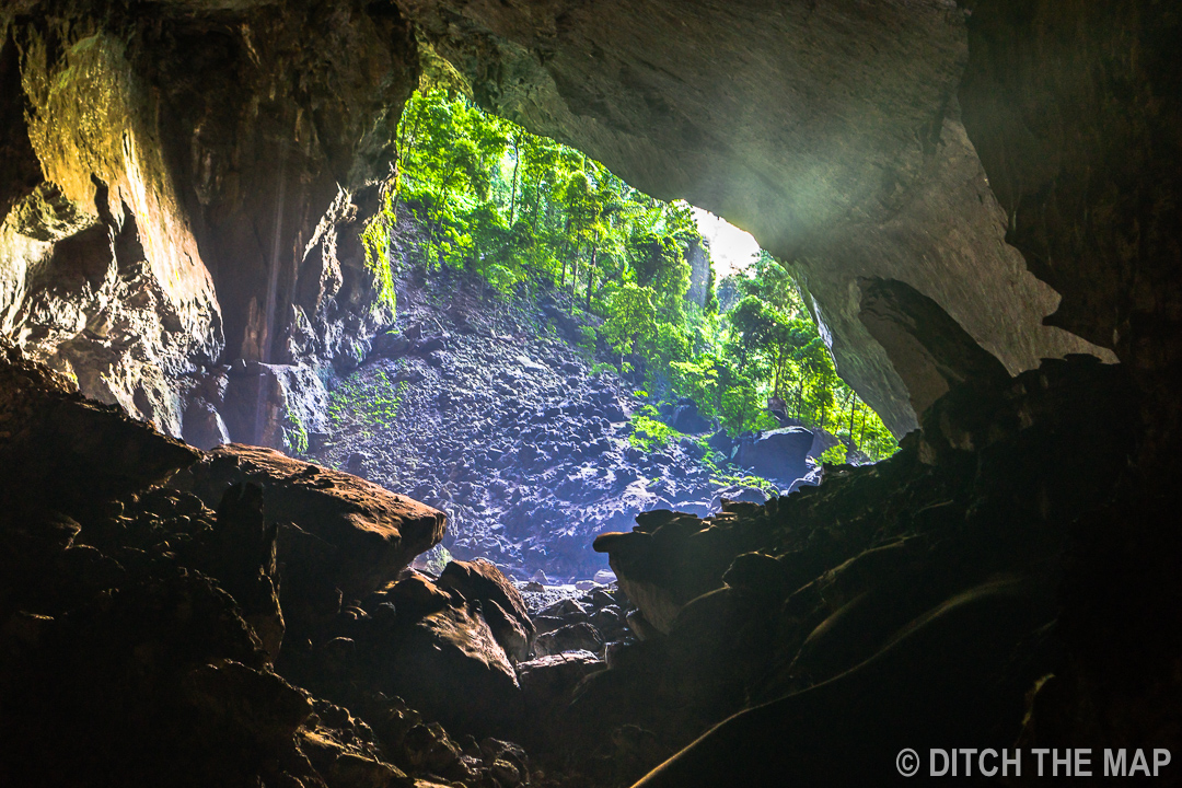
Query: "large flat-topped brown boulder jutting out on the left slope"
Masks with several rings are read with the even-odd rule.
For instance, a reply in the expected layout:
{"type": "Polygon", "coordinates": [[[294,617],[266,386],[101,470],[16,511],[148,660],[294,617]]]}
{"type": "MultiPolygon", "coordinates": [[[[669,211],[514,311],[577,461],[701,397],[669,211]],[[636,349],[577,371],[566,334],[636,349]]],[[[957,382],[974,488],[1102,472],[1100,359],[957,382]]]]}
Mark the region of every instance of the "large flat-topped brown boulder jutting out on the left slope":
{"type": "Polygon", "coordinates": [[[280,598],[288,624],[319,618],[310,606],[333,590],[337,599],[362,599],[443,538],[442,512],[271,449],[220,447],[175,483],[216,504],[229,484],[242,482],[262,488],[267,522],[281,523],[280,598]]]}

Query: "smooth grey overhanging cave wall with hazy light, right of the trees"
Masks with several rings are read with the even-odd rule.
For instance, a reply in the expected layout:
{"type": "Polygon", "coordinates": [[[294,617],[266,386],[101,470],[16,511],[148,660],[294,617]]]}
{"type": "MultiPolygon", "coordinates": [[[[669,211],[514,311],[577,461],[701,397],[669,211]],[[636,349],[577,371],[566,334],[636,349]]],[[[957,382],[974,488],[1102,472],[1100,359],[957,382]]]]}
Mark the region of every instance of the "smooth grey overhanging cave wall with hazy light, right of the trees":
{"type": "Polygon", "coordinates": [[[859,276],[933,298],[1017,373],[1105,350],[1005,242],[960,117],[950,2],[400,0],[478,102],[630,183],[749,230],[804,282],[838,369],[896,434],[909,384],[858,318],[859,276]]]}

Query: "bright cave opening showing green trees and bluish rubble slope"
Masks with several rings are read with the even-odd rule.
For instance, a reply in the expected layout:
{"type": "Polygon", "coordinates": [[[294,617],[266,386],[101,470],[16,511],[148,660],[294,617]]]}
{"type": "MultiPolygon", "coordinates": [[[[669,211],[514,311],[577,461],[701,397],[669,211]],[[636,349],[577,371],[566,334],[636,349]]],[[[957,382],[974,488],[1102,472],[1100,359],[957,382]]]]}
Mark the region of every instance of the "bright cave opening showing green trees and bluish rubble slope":
{"type": "Polygon", "coordinates": [[[398,149],[362,233],[394,320],[288,409],[282,448],[446,512],[417,568],[610,579],[591,542],[642,512],[764,502],[897,448],[738,228],[455,92],[417,91],[398,149]]]}

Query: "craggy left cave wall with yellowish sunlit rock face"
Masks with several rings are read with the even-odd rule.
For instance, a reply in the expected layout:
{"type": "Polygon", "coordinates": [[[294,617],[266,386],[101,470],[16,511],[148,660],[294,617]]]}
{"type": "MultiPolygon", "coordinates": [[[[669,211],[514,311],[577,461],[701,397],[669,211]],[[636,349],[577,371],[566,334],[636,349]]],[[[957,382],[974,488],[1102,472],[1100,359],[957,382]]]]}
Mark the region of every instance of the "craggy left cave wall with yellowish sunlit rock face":
{"type": "Polygon", "coordinates": [[[0,332],[84,393],[182,435],[235,359],[331,363],[389,319],[325,242],[417,84],[395,7],[24,0],[0,41],[0,332]]]}

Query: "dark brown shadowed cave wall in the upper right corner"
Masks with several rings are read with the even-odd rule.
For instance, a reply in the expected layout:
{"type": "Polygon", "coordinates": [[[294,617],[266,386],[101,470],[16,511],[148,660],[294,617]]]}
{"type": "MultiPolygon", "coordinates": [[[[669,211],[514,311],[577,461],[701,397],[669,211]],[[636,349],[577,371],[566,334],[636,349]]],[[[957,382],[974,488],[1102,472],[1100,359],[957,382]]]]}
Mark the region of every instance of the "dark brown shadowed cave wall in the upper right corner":
{"type": "Polygon", "coordinates": [[[1182,360],[1182,11],[968,4],[965,123],[1048,319],[1143,377],[1182,360]]]}

